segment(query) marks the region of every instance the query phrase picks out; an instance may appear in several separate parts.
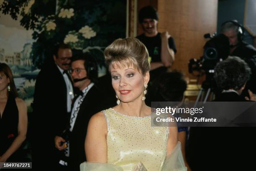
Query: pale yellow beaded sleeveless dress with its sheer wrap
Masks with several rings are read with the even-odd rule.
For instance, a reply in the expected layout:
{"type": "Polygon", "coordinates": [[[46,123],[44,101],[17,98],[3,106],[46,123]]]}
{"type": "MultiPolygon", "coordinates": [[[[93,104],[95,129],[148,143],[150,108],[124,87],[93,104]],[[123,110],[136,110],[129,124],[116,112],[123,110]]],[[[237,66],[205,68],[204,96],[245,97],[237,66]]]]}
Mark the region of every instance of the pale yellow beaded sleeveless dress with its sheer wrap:
{"type": "MultiPolygon", "coordinates": [[[[151,115],[128,116],[112,108],[102,112],[108,127],[108,163],[84,162],[80,165],[80,171],[136,171],[136,169],[138,171],[162,171],[166,167],[164,165],[169,135],[168,127],[152,127],[151,115]]],[[[180,151],[180,143],[178,146],[174,151],[180,151]]],[[[179,154],[181,168],[187,170],[181,151],[177,154],[179,154]]],[[[176,159],[172,162],[175,163],[176,159]]],[[[178,167],[180,169],[180,166],[178,167]]]]}

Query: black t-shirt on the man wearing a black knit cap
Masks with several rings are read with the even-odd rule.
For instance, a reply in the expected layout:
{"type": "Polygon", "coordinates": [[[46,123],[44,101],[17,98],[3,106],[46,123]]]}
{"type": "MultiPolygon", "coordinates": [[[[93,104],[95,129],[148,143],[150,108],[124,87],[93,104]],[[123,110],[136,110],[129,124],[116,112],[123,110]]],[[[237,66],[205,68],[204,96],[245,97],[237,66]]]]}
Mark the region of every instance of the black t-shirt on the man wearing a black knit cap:
{"type": "MultiPolygon", "coordinates": [[[[148,54],[151,57],[151,62],[160,62],[161,61],[161,33],[157,33],[154,37],[147,37],[145,34],[137,36],[142,43],[148,49],[148,54]]],[[[174,53],[177,52],[174,39],[170,37],[168,39],[169,48],[171,48],[174,53]]]]}

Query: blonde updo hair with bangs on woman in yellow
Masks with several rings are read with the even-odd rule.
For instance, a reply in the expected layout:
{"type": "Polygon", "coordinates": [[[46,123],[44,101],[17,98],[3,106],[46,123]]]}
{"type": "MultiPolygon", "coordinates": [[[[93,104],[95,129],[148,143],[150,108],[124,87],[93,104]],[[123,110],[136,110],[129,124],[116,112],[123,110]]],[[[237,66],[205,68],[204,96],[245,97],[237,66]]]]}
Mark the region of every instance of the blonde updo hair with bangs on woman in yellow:
{"type": "Polygon", "coordinates": [[[114,63],[120,66],[132,66],[145,75],[150,70],[148,50],[137,38],[118,38],[105,49],[105,62],[109,67],[114,63]]]}

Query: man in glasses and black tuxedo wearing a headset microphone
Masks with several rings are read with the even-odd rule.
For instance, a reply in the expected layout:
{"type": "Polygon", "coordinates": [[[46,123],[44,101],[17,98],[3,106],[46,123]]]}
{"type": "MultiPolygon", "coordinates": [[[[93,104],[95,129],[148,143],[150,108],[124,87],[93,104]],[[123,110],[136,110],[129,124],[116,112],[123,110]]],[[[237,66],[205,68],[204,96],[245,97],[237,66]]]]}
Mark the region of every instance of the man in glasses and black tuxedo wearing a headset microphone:
{"type": "Polygon", "coordinates": [[[86,161],[84,140],[90,117],[112,107],[115,102],[108,100],[105,92],[98,88],[97,63],[89,53],[74,56],[70,72],[74,87],[80,93],[74,99],[67,128],[55,137],[55,146],[60,151],[65,150],[68,170],[79,171],[80,164],[86,161]]]}

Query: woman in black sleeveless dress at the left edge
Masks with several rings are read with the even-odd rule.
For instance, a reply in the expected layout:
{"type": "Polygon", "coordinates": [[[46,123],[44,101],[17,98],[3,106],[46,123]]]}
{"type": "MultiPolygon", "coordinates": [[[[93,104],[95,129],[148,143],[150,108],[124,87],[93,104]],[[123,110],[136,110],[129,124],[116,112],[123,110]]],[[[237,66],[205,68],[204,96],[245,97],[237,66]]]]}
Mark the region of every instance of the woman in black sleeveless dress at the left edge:
{"type": "Polygon", "coordinates": [[[0,63],[0,115],[0,162],[18,162],[27,133],[27,106],[18,98],[12,71],[4,63],[0,63]]]}

